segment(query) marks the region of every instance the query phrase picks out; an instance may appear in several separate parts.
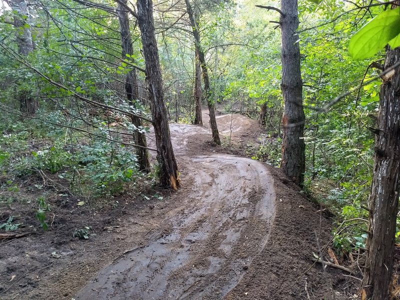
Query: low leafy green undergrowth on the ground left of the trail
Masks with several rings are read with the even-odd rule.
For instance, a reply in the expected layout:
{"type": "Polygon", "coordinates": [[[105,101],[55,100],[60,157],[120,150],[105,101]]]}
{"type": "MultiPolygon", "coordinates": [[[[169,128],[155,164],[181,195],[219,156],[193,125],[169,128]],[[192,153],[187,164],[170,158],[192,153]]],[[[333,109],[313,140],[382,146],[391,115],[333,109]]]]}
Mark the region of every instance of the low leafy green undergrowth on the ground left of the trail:
{"type": "MultiPolygon", "coordinates": [[[[109,141],[107,132],[104,137],[100,132],[87,136],[37,119],[4,114],[0,118],[0,186],[6,192],[1,193],[3,203],[13,201],[12,193],[17,193],[32,175],[41,178],[43,184],[49,177],[54,181],[55,176],[60,182],[57,184],[66,182],[75,196],[91,200],[115,196],[144,176],[138,170],[134,149],[109,141]]],[[[38,192],[43,188],[39,182],[34,185],[38,192]]]]}

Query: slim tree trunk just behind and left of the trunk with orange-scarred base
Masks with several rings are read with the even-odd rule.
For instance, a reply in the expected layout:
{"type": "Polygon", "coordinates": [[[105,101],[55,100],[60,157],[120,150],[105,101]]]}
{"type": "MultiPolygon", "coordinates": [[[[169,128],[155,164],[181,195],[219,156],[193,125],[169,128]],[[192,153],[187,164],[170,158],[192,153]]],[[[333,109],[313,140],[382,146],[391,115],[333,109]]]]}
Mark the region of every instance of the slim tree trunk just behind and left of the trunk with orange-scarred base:
{"type": "MultiPolygon", "coordinates": [[[[123,1],[125,4],[127,3],[127,0],[123,1]]],[[[117,11],[118,11],[118,20],[119,20],[119,27],[120,27],[121,41],[122,41],[121,43],[122,59],[126,59],[127,57],[126,54],[128,54],[129,57],[131,57],[133,54],[133,44],[129,29],[128,13],[120,3],[118,3],[117,11]]],[[[139,87],[138,87],[138,80],[135,68],[132,68],[126,74],[125,92],[129,104],[135,106],[135,102],[139,99],[139,87]]],[[[136,128],[143,126],[143,122],[140,118],[132,116],[131,119],[132,119],[132,124],[136,128]]],[[[146,136],[143,133],[136,130],[133,133],[133,139],[134,143],[140,146],[136,148],[136,155],[139,164],[139,169],[144,172],[149,172],[150,161],[148,158],[148,151],[146,149],[147,147],[146,136]]]]}

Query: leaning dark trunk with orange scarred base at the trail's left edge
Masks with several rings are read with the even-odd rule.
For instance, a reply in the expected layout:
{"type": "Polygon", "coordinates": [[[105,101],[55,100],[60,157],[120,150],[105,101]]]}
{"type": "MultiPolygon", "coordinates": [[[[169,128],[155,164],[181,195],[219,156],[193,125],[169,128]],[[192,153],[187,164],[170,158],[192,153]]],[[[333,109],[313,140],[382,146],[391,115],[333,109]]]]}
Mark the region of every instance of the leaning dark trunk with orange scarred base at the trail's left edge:
{"type": "Polygon", "coordinates": [[[176,190],[179,185],[178,167],[173,153],[167,111],[163,99],[151,0],[137,0],[137,22],[141,33],[146,76],[151,97],[151,113],[157,147],[157,160],[160,168],[159,180],[161,186],[170,186],[176,190]]]}

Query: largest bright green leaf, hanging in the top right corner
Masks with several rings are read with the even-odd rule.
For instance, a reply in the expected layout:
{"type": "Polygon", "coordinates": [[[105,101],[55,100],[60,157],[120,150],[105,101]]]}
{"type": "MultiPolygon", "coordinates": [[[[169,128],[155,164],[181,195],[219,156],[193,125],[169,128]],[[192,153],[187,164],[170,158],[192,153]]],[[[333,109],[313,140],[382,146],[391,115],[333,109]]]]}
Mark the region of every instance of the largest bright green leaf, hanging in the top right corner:
{"type": "Polygon", "coordinates": [[[353,59],[374,55],[400,33],[400,7],[382,11],[350,39],[348,51],[353,59]]]}

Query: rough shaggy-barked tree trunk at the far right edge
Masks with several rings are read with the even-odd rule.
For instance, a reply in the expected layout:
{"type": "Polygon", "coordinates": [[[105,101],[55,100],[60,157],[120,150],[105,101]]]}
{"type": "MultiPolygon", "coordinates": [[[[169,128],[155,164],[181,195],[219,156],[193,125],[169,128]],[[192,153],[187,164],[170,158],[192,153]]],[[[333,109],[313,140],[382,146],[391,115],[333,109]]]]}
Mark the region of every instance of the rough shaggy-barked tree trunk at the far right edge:
{"type": "MultiPolygon", "coordinates": [[[[400,61],[400,47],[386,50],[383,69],[400,61]]],[[[369,236],[362,293],[388,299],[400,192],[400,67],[380,87],[375,159],[369,198],[369,236]]]]}

